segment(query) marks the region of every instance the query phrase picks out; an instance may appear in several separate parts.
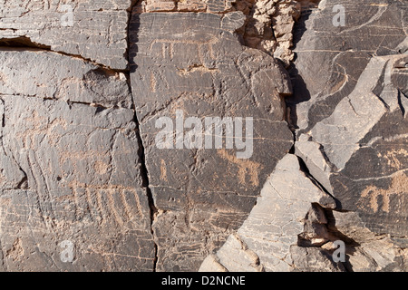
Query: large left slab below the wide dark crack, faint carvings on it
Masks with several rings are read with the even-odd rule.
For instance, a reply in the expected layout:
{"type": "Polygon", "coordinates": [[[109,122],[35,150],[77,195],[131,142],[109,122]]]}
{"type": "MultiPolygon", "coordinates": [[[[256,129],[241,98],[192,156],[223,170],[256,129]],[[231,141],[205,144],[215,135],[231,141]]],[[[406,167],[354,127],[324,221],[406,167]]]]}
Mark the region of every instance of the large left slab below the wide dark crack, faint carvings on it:
{"type": "Polygon", "coordinates": [[[153,270],[126,79],[58,53],[0,60],[1,268],[153,270]]]}

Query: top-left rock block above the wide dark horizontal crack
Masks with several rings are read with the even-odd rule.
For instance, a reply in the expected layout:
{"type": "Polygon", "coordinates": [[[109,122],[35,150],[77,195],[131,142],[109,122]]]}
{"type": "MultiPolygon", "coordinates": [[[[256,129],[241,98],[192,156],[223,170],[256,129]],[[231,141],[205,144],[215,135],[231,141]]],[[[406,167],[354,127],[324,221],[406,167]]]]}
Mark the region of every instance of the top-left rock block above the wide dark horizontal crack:
{"type": "Polygon", "coordinates": [[[126,69],[131,0],[0,1],[0,41],[29,38],[53,51],[126,69]],[[73,12],[73,23],[64,15],[73,12]]]}

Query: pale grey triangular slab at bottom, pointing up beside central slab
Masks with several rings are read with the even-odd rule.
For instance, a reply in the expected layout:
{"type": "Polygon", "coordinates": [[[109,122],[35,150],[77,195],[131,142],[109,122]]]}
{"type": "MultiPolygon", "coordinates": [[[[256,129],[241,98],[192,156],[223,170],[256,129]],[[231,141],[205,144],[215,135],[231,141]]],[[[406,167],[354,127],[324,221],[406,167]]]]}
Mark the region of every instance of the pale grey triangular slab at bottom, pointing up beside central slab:
{"type": "Polygon", "coordinates": [[[295,155],[288,154],[277,163],[238,234],[228,237],[217,254],[205,260],[200,271],[219,271],[219,265],[231,272],[322,271],[328,265],[332,270],[342,270],[325,257],[328,254],[324,251],[297,247],[312,203],[335,208],[335,200],[306,177],[295,155]],[[313,253],[313,257],[301,258],[302,251],[313,253]],[[308,263],[313,266],[308,268],[308,263]]]}

